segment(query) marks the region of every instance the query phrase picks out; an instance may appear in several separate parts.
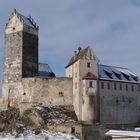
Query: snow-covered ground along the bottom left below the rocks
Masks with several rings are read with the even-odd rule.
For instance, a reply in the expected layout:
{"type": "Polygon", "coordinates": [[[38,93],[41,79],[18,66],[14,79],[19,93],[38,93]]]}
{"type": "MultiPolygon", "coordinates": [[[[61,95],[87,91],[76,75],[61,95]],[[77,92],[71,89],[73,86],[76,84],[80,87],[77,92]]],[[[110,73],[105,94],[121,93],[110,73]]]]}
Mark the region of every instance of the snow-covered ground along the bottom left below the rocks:
{"type": "Polygon", "coordinates": [[[71,134],[42,130],[41,133],[35,135],[34,131],[28,129],[22,134],[11,135],[0,133],[0,140],[80,140],[71,134]]]}

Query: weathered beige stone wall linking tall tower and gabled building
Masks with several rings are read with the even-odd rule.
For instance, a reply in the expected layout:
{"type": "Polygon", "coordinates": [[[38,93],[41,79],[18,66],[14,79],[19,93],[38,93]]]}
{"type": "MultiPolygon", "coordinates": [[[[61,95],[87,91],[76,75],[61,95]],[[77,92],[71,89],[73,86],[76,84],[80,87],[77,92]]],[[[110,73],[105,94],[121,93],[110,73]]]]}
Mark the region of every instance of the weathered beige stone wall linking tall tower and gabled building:
{"type": "Polygon", "coordinates": [[[23,78],[22,82],[4,84],[3,90],[10,106],[73,104],[71,78],[23,78]]]}

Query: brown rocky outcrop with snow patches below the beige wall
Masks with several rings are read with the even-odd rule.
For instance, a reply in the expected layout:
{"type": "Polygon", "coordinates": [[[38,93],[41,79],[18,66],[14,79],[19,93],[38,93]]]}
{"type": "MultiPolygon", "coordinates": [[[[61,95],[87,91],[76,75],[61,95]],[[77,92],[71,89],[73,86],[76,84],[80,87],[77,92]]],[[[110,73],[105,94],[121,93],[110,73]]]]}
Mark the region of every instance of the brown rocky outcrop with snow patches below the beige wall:
{"type": "Polygon", "coordinates": [[[36,106],[25,110],[22,114],[18,108],[13,107],[0,112],[0,132],[21,133],[25,128],[39,130],[50,125],[73,127],[76,123],[74,111],[62,106],[36,106]]]}

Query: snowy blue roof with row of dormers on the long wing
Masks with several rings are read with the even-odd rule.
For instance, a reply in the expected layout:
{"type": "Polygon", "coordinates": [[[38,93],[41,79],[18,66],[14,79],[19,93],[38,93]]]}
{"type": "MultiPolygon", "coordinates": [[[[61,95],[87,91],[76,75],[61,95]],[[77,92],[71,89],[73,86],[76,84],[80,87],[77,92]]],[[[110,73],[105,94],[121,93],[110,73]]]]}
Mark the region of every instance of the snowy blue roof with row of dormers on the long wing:
{"type": "Polygon", "coordinates": [[[127,68],[99,65],[99,78],[139,83],[139,77],[127,68]]]}

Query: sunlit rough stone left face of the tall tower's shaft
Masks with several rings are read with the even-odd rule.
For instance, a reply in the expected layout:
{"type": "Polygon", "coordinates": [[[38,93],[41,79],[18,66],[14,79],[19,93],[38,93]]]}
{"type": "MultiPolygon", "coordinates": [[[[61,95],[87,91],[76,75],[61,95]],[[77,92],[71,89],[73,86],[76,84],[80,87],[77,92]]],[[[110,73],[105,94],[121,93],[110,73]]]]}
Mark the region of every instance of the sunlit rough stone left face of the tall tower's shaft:
{"type": "Polygon", "coordinates": [[[22,32],[5,35],[4,73],[5,82],[21,80],[22,75],[22,32]]]}

